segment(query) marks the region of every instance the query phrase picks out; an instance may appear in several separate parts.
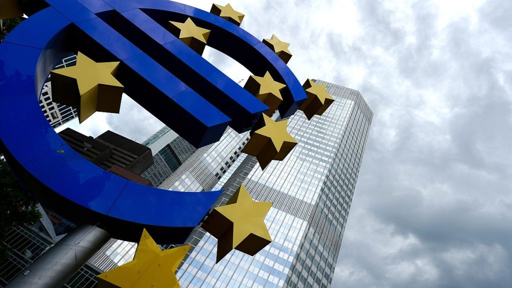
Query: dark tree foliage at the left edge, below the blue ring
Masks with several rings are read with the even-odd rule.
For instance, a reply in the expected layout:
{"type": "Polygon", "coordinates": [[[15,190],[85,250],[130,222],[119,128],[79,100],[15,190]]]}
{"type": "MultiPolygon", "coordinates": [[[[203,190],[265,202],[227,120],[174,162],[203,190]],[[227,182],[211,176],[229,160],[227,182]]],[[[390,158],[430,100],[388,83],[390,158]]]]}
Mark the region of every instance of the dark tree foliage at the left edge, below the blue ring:
{"type": "Polygon", "coordinates": [[[14,176],[7,161],[0,155],[0,260],[9,253],[4,243],[14,225],[32,225],[41,218],[37,201],[14,176]]]}

